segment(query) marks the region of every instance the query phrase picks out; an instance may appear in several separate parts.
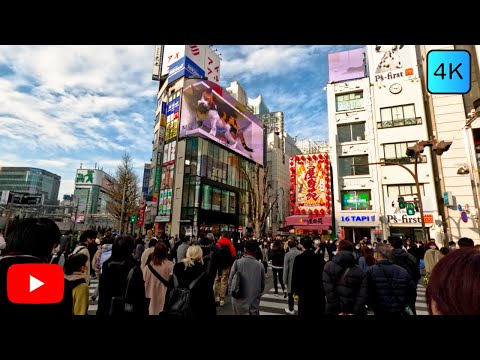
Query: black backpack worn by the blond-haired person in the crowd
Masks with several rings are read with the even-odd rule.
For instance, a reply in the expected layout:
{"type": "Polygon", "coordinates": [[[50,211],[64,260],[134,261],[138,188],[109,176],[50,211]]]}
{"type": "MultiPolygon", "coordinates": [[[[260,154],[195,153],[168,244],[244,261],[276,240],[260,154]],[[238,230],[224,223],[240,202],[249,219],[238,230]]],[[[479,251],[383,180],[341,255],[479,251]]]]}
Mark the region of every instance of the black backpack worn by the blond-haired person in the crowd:
{"type": "Polygon", "coordinates": [[[204,274],[205,272],[202,272],[199,276],[197,276],[197,278],[194,279],[190,285],[188,285],[188,287],[181,287],[178,283],[177,277],[175,274],[173,274],[173,289],[167,293],[162,315],[181,318],[192,316],[192,311],[190,309],[191,290],[204,274]]]}

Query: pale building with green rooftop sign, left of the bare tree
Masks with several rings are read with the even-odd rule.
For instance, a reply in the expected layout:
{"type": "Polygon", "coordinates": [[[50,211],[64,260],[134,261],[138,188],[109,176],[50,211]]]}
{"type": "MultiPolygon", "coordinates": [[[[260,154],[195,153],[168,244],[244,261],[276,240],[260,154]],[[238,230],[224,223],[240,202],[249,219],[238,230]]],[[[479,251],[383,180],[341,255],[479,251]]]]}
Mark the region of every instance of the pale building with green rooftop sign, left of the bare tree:
{"type": "Polygon", "coordinates": [[[73,197],[73,217],[76,222],[92,226],[115,226],[107,212],[108,190],[114,179],[100,169],[77,169],[73,197]]]}

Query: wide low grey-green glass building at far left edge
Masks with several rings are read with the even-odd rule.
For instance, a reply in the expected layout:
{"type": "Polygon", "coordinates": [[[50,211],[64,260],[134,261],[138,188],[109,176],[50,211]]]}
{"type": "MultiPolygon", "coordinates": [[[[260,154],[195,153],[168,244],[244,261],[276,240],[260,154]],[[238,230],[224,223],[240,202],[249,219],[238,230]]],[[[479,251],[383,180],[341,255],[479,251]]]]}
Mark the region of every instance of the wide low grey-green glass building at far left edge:
{"type": "Polygon", "coordinates": [[[58,205],[60,180],[59,175],[43,169],[0,167],[0,191],[14,194],[14,203],[58,205]]]}

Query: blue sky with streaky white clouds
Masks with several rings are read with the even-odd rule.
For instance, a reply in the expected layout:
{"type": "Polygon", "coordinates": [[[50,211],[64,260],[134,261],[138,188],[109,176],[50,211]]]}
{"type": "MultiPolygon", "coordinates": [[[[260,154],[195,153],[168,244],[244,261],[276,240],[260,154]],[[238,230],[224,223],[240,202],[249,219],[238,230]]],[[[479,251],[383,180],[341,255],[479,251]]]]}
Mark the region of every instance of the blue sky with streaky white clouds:
{"type": "MultiPolygon", "coordinates": [[[[221,82],[283,111],[298,139],[327,139],[327,54],[360,45],[218,45],[221,82]],[[313,126],[312,126],[313,125],[313,126]]],[[[128,152],[150,161],[154,46],[0,46],[0,166],[38,167],[74,190],[80,163],[114,174],[128,152]]]]}

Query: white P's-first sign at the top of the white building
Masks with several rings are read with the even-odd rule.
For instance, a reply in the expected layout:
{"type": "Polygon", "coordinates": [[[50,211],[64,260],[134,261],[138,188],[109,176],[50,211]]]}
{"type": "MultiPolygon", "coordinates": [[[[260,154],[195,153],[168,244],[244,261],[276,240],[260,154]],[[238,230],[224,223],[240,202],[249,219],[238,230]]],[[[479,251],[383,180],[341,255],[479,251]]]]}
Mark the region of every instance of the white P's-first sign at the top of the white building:
{"type": "Polygon", "coordinates": [[[373,82],[418,77],[415,45],[368,45],[373,82]]]}

